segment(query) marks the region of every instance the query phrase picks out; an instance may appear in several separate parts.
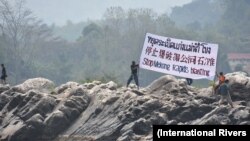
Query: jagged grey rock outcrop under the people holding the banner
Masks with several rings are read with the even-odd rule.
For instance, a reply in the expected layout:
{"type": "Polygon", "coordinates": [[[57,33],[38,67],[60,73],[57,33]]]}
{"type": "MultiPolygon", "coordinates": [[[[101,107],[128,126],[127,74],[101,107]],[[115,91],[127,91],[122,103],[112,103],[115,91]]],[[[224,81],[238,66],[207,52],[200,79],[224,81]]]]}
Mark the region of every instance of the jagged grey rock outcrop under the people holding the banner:
{"type": "Polygon", "coordinates": [[[0,140],[151,141],[154,124],[250,125],[250,78],[227,74],[234,108],[218,105],[212,87],[166,75],[138,91],[115,82],[59,87],[44,78],[0,86],[0,140]]]}

